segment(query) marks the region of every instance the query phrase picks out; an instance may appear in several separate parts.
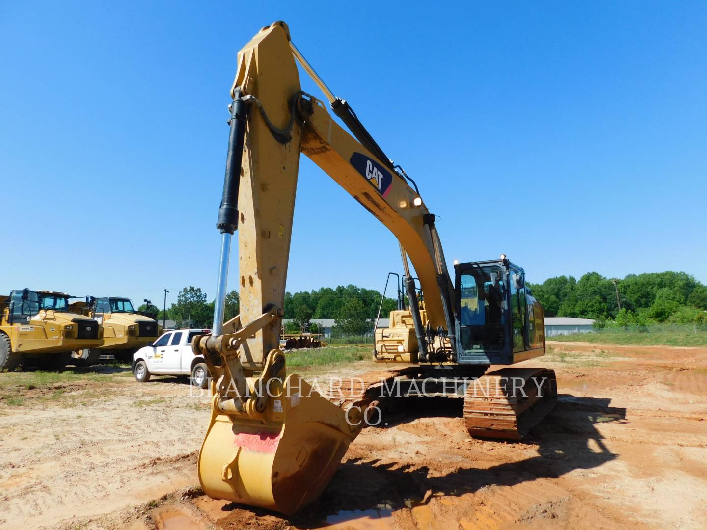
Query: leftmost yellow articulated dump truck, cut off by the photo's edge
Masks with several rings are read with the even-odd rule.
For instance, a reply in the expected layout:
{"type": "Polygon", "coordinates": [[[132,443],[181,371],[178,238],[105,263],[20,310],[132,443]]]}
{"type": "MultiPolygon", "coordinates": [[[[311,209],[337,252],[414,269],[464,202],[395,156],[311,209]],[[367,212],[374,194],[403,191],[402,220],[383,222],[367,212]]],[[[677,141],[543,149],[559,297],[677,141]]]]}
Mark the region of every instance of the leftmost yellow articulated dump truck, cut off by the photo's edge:
{"type": "Polygon", "coordinates": [[[0,301],[0,370],[59,370],[71,353],[103,344],[103,326],[72,312],[66,293],[13,290],[0,301]]]}

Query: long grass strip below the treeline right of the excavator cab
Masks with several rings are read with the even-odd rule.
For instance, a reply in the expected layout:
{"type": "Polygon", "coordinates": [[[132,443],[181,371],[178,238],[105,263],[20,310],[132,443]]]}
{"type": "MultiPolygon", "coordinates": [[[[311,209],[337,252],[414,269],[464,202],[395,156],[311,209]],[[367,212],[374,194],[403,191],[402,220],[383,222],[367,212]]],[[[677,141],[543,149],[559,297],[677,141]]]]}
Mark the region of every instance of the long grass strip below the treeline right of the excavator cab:
{"type": "Polygon", "coordinates": [[[707,346],[707,331],[694,328],[657,328],[597,330],[596,333],[556,335],[547,341],[588,342],[618,346],[707,346]]]}

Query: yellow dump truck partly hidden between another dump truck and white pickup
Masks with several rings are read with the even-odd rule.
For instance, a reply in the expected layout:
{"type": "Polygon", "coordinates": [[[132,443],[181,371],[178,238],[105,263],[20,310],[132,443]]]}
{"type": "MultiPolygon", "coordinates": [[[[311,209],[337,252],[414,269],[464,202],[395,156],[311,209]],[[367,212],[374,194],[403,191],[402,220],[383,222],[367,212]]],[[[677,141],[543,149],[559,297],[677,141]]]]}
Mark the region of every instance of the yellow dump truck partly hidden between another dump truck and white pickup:
{"type": "Polygon", "coordinates": [[[72,308],[86,312],[103,324],[103,344],[82,351],[74,360],[77,366],[98,364],[101,355],[112,355],[122,363],[132,363],[132,355],[148,343],[156,341],[162,326],[156,319],[134,309],[129,298],[119,296],[93,297],[75,302],[72,308]]]}

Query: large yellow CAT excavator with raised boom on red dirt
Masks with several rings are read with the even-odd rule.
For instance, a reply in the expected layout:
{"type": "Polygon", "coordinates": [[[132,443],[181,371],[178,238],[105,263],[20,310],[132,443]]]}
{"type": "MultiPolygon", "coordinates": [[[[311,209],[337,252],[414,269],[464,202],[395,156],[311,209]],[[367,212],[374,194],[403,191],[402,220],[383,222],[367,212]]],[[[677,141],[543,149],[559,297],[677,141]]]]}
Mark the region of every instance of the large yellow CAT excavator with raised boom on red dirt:
{"type": "Polygon", "coordinates": [[[544,354],[542,307],[524,271],[501,256],[455,261],[452,278],[436,216],[416,183],[387,158],[349,103],[334,97],[285,23],[266,26],[240,50],[231,96],[214,329],[192,341],[213,377],[198,463],[204,492],[297,512],[320,495],[349,443],[380,420],[395,396],[462,398],[471,435],[526,435],[554,406],[554,372],[488,372],[544,354]],[[296,61],[328,105],[300,88],[296,61]],[[375,336],[373,359],[387,369],[329,384],[325,394],[287,375],[279,348],[300,153],[397,237],[408,301],[375,336]],[[236,230],[240,314],[224,323],[236,230]]]}

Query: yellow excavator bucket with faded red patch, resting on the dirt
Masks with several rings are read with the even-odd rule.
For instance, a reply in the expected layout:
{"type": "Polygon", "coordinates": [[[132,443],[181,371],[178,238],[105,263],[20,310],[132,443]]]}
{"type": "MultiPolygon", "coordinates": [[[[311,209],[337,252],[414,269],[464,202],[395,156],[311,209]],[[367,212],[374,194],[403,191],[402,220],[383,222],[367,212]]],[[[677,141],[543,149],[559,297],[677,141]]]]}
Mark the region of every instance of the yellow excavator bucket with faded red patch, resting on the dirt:
{"type": "MultiPolygon", "coordinates": [[[[256,379],[247,382],[253,390],[256,379]]],[[[271,383],[260,415],[224,411],[214,396],[199,481],[210,497],[289,515],[326,488],[361,422],[355,413],[347,420],[346,411],[298,375],[271,383]]]]}

